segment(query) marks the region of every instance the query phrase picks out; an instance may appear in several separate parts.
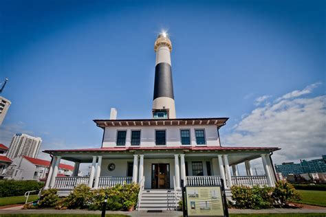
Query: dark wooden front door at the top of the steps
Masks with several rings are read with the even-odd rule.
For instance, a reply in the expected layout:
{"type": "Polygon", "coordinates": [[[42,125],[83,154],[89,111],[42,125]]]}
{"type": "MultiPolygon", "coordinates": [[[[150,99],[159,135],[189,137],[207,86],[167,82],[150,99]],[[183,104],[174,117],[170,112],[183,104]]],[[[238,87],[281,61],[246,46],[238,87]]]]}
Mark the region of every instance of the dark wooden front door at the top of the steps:
{"type": "Polygon", "coordinates": [[[170,188],[169,163],[152,163],[152,189],[170,188]]]}

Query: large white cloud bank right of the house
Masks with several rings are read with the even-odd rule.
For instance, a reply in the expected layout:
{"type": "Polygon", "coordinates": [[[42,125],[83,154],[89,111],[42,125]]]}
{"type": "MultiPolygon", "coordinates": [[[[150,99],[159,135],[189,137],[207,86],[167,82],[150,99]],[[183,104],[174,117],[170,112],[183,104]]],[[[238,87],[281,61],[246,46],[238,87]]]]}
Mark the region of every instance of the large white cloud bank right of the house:
{"type": "Polygon", "coordinates": [[[319,84],[254,109],[226,135],[226,144],[279,147],[281,150],[273,155],[274,163],[325,155],[326,95],[297,98],[319,84]]]}

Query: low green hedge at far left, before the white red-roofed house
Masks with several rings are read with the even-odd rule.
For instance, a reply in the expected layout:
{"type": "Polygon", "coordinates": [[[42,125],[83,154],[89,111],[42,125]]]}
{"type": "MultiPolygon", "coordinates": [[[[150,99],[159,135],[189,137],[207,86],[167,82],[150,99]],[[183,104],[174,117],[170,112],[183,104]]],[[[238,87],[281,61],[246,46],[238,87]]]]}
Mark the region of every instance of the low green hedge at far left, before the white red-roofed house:
{"type": "Polygon", "coordinates": [[[32,180],[0,180],[0,197],[21,196],[28,191],[40,190],[43,185],[44,183],[32,180]]]}

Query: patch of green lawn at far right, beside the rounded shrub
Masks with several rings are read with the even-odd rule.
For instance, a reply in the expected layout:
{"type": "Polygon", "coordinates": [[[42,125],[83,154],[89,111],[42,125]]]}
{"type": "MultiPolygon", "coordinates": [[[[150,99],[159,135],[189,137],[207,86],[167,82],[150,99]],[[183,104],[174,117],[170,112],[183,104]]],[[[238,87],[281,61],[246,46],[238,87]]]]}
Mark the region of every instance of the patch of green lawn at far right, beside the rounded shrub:
{"type": "Polygon", "coordinates": [[[326,207],[326,192],[312,190],[297,190],[302,196],[298,203],[326,207]]]}

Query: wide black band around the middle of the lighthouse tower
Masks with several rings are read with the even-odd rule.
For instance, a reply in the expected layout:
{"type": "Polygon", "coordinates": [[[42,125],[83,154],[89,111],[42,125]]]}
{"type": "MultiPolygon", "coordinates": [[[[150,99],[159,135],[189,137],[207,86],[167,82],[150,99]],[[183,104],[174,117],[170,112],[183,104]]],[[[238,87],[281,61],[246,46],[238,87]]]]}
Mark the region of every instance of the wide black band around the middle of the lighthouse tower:
{"type": "Polygon", "coordinates": [[[174,100],[171,65],[166,62],[160,62],[155,66],[153,100],[161,97],[172,98],[174,100]]]}

